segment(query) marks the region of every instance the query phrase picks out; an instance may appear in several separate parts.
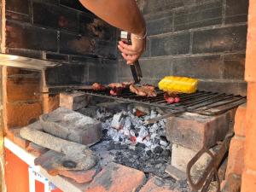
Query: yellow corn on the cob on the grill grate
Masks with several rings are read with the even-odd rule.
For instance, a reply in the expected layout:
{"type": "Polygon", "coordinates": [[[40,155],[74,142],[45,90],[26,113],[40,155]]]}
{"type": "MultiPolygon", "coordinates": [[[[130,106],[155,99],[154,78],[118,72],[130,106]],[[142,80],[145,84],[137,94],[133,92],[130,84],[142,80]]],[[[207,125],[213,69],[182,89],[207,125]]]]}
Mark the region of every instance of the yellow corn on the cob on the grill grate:
{"type": "Polygon", "coordinates": [[[194,93],[197,89],[198,79],[187,77],[167,76],[158,84],[160,90],[172,93],[194,93]]]}

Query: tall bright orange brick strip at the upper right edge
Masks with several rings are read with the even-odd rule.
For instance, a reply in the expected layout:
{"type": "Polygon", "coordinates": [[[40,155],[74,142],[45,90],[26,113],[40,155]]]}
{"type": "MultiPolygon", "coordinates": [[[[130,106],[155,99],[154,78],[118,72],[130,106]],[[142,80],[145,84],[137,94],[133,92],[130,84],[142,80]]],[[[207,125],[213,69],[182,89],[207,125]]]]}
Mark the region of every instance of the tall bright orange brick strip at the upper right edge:
{"type": "Polygon", "coordinates": [[[256,82],[256,2],[250,0],[248,13],[248,29],[247,29],[247,57],[245,79],[247,81],[256,82]]]}

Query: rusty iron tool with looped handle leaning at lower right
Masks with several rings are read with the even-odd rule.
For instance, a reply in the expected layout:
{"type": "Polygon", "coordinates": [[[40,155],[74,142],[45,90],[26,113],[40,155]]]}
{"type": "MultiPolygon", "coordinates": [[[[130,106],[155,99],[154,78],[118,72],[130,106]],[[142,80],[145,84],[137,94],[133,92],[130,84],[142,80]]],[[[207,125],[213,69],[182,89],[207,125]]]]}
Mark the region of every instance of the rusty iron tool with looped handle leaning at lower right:
{"type": "Polygon", "coordinates": [[[196,191],[201,189],[201,192],[207,192],[210,187],[210,184],[212,183],[212,179],[216,178],[216,181],[218,183],[217,192],[220,192],[221,181],[218,177],[218,168],[221,165],[221,162],[224,159],[225,154],[228,152],[230,148],[230,140],[233,136],[234,131],[230,130],[227,133],[226,137],[224,138],[224,141],[221,143],[221,147],[218,150],[218,154],[212,154],[209,148],[202,148],[197,154],[195,154],[195,157],[193,157],[189,161],[187,166],[187,177],[192,189],[196,191]],[[191,176],[191,168],[195,165],[197,160],[199,160],[203,154],[209,154],[212,160],[210,161],[209,165],[204,170],[198,181],[194,183],[191,176]]]}

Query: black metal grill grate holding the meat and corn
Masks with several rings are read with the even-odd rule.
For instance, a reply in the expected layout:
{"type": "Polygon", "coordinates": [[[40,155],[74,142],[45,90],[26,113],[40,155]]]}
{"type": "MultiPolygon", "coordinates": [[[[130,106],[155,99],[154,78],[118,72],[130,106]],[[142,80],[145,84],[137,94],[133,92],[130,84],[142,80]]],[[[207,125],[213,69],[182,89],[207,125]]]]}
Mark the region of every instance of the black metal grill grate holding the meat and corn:
{"type": "MultiPolygon", "coordinates": [[[[84,90],[83,90],[84,91],[84,90]]],[[[236,108],[247,101],[246,96],[235,96],[198,90],[192,94],[180,94],[181,102],[168,104],[164,99],[164,92],[156,90],[156,97],[137,96],[130,90],[123,90],[119,96],[111,96],[109,90],[85,90],[89,96],[101,96],[123,102],[134,102],[143,105],[166,108],[172,113],[199,113],[207,116],[218,115],[232,108],[236,108]]]]}

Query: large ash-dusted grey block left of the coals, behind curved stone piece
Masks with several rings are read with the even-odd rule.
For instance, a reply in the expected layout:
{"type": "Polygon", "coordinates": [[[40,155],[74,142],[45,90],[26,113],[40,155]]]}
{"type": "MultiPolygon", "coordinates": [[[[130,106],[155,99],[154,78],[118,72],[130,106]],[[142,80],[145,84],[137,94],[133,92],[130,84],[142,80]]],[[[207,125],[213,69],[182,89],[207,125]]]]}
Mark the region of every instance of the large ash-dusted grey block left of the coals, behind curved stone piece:
{"type": "Polygon", "coordinates": [[[43,114],[40,123],[44,131],[75,143],[91,145],[102,138],[101,122],[67,108],[43,114]]]}

